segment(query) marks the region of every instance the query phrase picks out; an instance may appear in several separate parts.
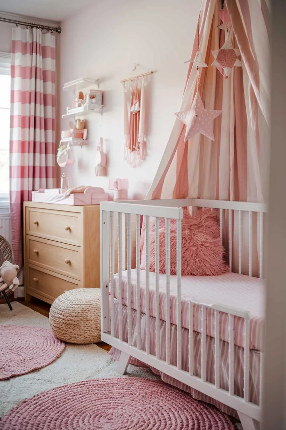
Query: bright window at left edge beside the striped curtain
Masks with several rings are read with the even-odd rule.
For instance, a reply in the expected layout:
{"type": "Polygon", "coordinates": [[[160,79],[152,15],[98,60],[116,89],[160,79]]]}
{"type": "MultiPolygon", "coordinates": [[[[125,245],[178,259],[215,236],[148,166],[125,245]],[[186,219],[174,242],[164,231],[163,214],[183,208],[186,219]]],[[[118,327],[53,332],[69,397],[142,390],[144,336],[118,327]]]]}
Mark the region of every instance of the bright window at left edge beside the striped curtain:
{"type": "Polygon", "coordinates": [[[0,52],[0,206],[9,206],[10,63],[0,52]]]}

